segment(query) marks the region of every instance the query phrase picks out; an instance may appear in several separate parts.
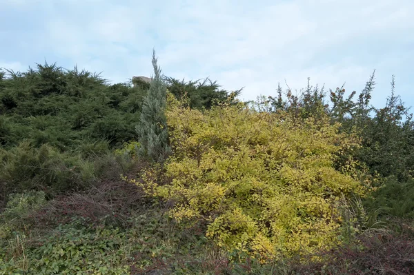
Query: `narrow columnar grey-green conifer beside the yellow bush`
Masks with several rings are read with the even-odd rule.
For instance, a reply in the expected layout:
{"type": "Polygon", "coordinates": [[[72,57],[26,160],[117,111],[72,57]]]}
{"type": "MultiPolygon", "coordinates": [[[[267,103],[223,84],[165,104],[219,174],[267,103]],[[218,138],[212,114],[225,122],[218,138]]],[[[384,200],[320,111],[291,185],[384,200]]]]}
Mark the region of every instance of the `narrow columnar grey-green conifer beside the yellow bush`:
{"type": "Polygon", "coordinates": [[[166,84],[161,77],[161,69],[157,65],[155,50],[152,50],[152,67],[150,89],[142,104],[140,125],[135,128],[139,134],[141,147],[139,154],[150,161],[162,163],[170,154],[168,145],[166,109],[166,84]]]}

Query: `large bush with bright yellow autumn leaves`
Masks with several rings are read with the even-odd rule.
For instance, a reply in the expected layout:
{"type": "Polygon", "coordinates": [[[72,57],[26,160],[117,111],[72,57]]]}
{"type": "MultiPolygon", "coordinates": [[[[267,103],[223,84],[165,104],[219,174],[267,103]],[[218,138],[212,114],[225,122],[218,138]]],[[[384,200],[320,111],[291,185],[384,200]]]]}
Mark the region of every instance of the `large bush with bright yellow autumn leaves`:
{"type": "Polygon", "coordinates": [[[173,201],[177,221],[204,219],[218,245],[261,259],[338,241],[340,198],[364,192],[333,167],[335,155],[353,145],[338,125],[242,103],[190,110],[170,94],[166,116],[173,154],[164,183],[155,169],[132,182],[173,201]]]}

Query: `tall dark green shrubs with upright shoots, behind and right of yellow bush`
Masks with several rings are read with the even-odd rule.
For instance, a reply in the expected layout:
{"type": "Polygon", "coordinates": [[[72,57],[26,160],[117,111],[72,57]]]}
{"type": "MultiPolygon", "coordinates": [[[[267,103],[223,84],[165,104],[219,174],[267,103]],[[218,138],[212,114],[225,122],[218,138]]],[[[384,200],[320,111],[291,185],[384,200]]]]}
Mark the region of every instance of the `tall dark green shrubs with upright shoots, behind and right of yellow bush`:
{"type": "Polygon", "coordinates": [[[342,132],[356,132],[360,136],[362,148],[355,152],[355,156],[368,166],[370,174],[397,176],[400,181],[406,181],[414,172],[413,116],[400,96],[395,95],[394,77],[385,107],[370,105],[374,79],[375,72],[356,100],[357,92],[345,97],[343,87],[329,90],[329,100],[326,100],[324,89],[313,88],[308,82],[308,87],[299,96],[293,95],[291,90],[284,96],[279,86],[277,98],[269,96],[268,101],[271,111],[286,110],[296,118],[328,114],[333,123],[342,123],[342,132]]]}

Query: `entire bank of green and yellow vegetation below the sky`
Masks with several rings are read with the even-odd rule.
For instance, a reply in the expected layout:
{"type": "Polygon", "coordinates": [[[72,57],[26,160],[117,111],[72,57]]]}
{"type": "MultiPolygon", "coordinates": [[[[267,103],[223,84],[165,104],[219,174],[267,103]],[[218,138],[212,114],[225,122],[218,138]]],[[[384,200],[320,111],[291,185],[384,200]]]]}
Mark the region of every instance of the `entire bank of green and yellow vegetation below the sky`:
{"type": "Polygon", "coordinates": [[[0,71],[0,274],[414,273],[394,77],[384,108],[375,74],[243,103],[152,65],[135,87],[0,71]]]}

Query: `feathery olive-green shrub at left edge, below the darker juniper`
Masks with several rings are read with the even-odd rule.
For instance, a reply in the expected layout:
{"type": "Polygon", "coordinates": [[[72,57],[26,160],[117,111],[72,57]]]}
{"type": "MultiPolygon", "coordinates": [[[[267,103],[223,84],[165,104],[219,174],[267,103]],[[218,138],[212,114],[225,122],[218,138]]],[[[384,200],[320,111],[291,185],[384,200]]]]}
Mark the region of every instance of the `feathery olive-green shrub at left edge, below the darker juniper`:
{"type": "Polygon", "coordinates": [[[94,181],[93,165],[79,154],[61,153],[50,145],[20,143],[0,149],[0,182],[3,194],[24,190],[61,192],[79,190],[94,181]]]}

